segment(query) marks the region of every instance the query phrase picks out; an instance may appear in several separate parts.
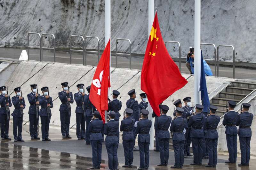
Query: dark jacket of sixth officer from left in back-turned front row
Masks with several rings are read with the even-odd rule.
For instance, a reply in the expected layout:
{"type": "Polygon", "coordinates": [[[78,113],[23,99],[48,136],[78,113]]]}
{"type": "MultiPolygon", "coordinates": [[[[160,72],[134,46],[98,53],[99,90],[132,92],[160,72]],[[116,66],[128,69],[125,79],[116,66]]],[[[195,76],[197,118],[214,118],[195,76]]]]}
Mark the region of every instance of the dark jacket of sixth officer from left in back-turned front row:
{"type": "Polygon", "coordinates": [[[176,119],[172,120],[170,127],[170,131],[173,132],[172,140],[185,140],[185,135],[183,132],[185,128],[188,128],[187,119],[177,117],[176,119]]]}

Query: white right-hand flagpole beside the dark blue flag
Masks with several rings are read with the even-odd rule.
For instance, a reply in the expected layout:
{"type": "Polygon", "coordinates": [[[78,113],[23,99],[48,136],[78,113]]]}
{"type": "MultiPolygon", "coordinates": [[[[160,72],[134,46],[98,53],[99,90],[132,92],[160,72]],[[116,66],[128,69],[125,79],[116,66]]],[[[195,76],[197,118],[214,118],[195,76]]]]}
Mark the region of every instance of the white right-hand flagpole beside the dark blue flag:
{"type": "Polygon", "coordinates": [[[199,104],[199,77],[200,77],[200,67],[201,67],[201,52],[200,52],[200,29],[201,29],[201,0],[195,0],[195,37],[194,37],[194,47],[195,47],[195,104],[199,104]]]}

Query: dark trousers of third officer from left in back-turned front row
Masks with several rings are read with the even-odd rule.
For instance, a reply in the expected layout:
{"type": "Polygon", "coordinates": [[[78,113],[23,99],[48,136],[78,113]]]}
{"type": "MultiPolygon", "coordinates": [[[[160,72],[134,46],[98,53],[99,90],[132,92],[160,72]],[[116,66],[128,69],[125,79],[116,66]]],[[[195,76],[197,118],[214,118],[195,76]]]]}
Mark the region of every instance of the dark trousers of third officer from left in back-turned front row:
{"type": "Polygon", "coordinates": [[[134,140],[123,140],[125,165],[132,165],[134,140]]]}

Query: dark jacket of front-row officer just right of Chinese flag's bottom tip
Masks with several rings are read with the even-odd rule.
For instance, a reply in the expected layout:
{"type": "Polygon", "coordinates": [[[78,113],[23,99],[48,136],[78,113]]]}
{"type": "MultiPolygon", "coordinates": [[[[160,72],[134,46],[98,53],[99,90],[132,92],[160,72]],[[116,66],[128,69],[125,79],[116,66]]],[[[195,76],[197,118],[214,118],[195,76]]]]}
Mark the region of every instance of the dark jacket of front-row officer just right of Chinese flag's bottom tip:
{"type": "Polygon", "coordinates": [[[163,114],[156,118],[155,130],[157,131],[157,137],[170,138],[169,127],[172,122],[172,118],[163,114]]]}

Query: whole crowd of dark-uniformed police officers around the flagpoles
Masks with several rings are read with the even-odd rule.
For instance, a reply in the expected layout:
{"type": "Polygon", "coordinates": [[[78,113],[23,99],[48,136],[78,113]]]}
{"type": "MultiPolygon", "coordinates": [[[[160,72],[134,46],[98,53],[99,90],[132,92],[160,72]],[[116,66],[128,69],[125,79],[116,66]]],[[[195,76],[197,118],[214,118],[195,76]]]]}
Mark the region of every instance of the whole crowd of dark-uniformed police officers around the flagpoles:
{"type": "MultiPolygon", "coordinates": [[[[69,92],[68,82],[61,83],[62,91],[59,92],[60,104],[60,122],[62,138],[71,138],[69,135],[69,123],[71,107],[70,103],[76,101],[76,136],[78,140],[85,140],[85,144],[92,146],[92,163],[91,169],[100,169],[102,143],[106,144],[108,152],[108,167],[110,170],[117,169],[117,149],[119,144],[119,111],[122,108],[122,102],[118,100],[120,93],[113,91],[113,100],[109,99],[108,103],[108,120],[104,124],[101,120],[100,113],[89,100],[91,86],[86,87],[88,95],[84,92],[84,84],[76,85],[78,92],[74,94],[69,92]],[[85,126],[86,125],[86,126],[85,126]],[[85,128],[86,127],[86,128],[85,128]],[[106,135],[104,141],[104,135],[106,135]]],[[[40,139],[38,137],[39,116],[42,124],[42,141],[50,141],[49,124],[51,120],[52,97],[49,96],[49,88],[41,88],[42,95],[38,93],[37,85],[30,85],[31,93],[27,95],[29,101],[29,132],[31,140],[40,139]],[[41,106],[41,109],[39,109],[41,106]]],[[[6,87],[0,87],[0,124],[2,140],[11,140],[8,135],[10,110],[12,105],[15,107],[13,113],[13,136],[14,142],[22,139],[22,122],[23,109],[26,107],[25,100],[22,97],[20,87],[14,89],[15,96],[12,101],[6,93],[6,87]]],[[[148,119],[148,102],[147,94],[141,93],[141,102],[136,99],[134,89],[128,92],[130,99],[126,102],[124,119],[120,124],[120,131],[123,132],[124,147],[124,166],[132,167],[133,150],[136,149],[135,139],[138,136],[140,167],[138,169],[148,169],[149,167],[149,130],[152,126],[151,120],[148,119]]],[[[175,155],[175,164],[171,168],[182,168],[184,158],[192,156],[189,152],[190,143],[194,160],[191,165],[202,165],[202,159],[209,159],[206,167],[216,167],[217,164],[217,145],[218,132],[216,130],[220,117],[215,115],[216,106],[210,106],[209,111],[203,112],[203,105],[197,104],[191,107],[191,98],[183,99],[185,106],[182,107],[181,100],[176,100],[173,104],[176,109],[173,112],[174,119],[167,116],[169,107],[159,105],[161,115],[153,112],[152,117],[156,117],[154,128],[156,135],[156,149],[160,152],[160,164],[157,166],[167,166],[169,159],[169,142],[170,132],[172,132],[172,144],[175,155]],[[195,109],[195,111],[194,111],[195,109]]],[[[228,101],[227,113],[224,115],[223,125],[226,126],[226,139],[229,153],[229,160],[225,163],[235,164],[237,157],[237,134],[240,141],[241,164],[238,166],[249,166],[250,160],[250,140],[252,136],[251,124],[253,114],[249,113],[248,103],[243,103],[241,114],[234,111],[236,102],[228,101]],[[237,127],[239,130],[237,131],[237,127]]]]}

